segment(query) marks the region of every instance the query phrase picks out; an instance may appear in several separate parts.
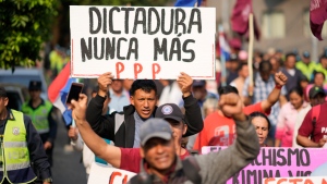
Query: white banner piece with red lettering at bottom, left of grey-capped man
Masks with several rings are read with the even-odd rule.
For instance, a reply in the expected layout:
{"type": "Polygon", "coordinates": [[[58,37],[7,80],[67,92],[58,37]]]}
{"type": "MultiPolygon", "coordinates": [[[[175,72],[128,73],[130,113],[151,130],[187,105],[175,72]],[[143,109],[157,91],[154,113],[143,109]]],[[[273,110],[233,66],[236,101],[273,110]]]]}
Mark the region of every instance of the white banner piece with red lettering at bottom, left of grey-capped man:
{"type": "Polygon", "coordinates": [[[133,172],[93,162],[87,184],[125,184],[134,175],[133,172]]]}

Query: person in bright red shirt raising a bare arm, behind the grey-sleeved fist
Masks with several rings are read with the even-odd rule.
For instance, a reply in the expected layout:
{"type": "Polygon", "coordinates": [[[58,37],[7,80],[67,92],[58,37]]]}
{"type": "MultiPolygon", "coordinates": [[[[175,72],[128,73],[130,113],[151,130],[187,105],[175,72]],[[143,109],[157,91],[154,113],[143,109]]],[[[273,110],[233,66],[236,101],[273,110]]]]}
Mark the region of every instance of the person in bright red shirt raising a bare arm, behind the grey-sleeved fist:
{"type": "MultiPolygon", "coordinates": [[[[266,114],[270,113],[270,108],[278,101],[280,89],[287,82],[283,73],[275,74],[277,87],[269,94],[268,99],[258,103],[244,107],[243,112],[250,114],[258,111],[266,114]]],[[[219,96],[225,94],[239,94],[238,89],[232,86],[225,86],[218,89],[219,96]]],[[[235,139],[235,123],[230,118],[231,114],[223,115],[221,110],[208,115],[204,120],[204,128],[197,135],[193,149],[201,152],[203,146],[230,146],[235,139]]]]}

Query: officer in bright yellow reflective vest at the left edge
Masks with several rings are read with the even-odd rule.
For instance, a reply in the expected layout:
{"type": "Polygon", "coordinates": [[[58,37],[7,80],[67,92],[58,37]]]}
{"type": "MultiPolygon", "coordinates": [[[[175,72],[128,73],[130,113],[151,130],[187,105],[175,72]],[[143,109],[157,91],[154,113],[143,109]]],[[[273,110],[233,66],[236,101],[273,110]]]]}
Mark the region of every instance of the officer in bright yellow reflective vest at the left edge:
{"type": "Polygon", "coordinates": [[[40,136],[27,115],[7,108],[8,101],[0,87],[0,184],[35,183],[32,163],[40,171],[40,183],[50,184],[50,163],[40,136]]]}

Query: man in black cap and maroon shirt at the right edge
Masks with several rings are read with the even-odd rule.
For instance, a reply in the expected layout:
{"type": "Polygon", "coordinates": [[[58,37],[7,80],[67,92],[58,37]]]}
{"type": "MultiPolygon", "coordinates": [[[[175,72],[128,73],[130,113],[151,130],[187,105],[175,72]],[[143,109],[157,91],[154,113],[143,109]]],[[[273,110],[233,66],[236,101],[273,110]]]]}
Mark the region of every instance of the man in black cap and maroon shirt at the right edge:
{"type": "Polygon", "coordinates": [[[310,89],[311,103],[317,103],[305,115],[296,140],[303,147],[323,147],[327,142],[327,102],[326,94],[322,87],[310,89]]]}

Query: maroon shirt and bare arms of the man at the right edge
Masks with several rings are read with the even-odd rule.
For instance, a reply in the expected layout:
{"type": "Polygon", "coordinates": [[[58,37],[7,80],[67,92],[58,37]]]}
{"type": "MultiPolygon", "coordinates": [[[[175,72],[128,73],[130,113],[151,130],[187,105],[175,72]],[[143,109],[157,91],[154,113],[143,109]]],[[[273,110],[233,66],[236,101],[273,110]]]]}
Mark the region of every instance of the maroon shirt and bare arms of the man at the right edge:
{"type": "Polygon", "coordinates": [[[317,105],[317,108],[320,108],[320,113],[316,116],[315,125],[313,123],[313,109],[311,109],[299,128],[296,140],[303,147],[320,148],[327,143],[327,101],[317,105]]]}

